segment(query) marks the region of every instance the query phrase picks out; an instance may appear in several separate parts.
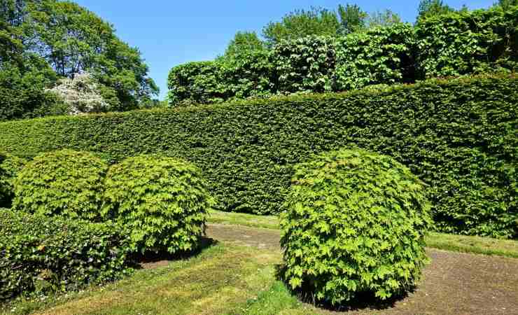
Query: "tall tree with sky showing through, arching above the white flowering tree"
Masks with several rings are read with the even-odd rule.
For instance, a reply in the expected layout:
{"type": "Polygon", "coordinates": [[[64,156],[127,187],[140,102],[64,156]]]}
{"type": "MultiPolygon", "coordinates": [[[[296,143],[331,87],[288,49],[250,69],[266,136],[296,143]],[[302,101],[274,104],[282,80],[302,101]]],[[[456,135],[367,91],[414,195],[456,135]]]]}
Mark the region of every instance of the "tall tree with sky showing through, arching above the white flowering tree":
{"type": "Polygon", "coordinates": [[[59,76],[88,71],[115,90],[118,111],[148,106],[158,87],[141,53],[115,35],[113,27],[72,2],[42,0],[27,5],[28,50],[38,52],[59,76]]]}

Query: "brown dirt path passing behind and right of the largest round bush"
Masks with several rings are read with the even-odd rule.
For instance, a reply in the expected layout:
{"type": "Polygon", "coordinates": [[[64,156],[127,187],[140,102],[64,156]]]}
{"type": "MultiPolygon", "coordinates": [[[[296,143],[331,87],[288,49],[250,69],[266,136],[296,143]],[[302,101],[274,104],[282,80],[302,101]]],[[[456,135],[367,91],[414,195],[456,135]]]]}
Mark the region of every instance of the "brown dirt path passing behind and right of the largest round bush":
{"type": "MultiPolygon", "coordinates": [[[[207,235],[218,241],[280,251],[277,230],[210,224],[207,235]]],[[[432,262],[413,293],[386,309],[367,307],[351,314],[518,315],[518,259],[436,249],[427,252],[432,262]]]]}

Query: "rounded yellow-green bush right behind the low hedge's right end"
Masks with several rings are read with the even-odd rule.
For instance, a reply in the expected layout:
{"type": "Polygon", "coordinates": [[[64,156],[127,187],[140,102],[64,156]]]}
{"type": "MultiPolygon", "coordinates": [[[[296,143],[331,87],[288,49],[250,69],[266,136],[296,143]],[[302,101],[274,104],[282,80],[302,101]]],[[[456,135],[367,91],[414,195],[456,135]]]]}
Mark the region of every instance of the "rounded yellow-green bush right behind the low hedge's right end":
{"type": "Polygon", "coordinates": [[[102,214],[131,230],[136,251],[176,253],[197,248],[213,205],[193,165],[140,155],[109,169],[102,214]]]}

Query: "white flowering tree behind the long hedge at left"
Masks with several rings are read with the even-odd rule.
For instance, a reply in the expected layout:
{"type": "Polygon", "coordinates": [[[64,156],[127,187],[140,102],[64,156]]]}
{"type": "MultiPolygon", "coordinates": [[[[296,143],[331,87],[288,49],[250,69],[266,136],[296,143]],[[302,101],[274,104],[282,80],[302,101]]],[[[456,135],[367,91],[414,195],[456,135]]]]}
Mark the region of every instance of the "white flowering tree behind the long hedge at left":
{"type": "Polygon", "coordinates": [[[49,91],[63,99],[69,115],[102,113],[110,107],[109,102],[102,97],[101,86],[87,72],[78,73],[73,78],[63,78],[49,91]]]}

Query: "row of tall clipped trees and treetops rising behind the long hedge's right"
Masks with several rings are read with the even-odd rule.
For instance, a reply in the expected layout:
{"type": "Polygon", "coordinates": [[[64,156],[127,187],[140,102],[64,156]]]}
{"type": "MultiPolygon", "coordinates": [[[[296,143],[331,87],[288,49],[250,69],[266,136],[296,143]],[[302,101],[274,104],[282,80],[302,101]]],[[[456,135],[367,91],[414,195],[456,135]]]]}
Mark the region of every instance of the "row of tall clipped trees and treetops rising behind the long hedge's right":
{"type": "Polygon", "coordinates": [[[453,10],[421,1],[415,25],[358,6],[295,11],[257,34],[239,32],[225,55],[169,73],[169,104],[210,104],[300,92],[518,69],[518,3],[453,10]]]}

